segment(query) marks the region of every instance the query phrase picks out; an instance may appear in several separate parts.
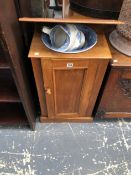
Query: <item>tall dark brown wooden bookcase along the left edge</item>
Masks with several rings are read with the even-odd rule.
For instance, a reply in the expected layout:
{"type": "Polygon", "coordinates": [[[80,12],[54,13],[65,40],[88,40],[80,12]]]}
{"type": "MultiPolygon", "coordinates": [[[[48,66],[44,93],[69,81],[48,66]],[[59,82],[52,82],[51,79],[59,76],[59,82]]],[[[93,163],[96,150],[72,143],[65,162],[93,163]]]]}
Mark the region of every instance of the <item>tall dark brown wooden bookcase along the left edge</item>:
{"type": "Polygon", "coordinates": [[[27,6],[23,0],[0,2],[0,125],[34,129],[35,107],[25,66],[27,31],[17,20],[30,14],[27,6]]]}

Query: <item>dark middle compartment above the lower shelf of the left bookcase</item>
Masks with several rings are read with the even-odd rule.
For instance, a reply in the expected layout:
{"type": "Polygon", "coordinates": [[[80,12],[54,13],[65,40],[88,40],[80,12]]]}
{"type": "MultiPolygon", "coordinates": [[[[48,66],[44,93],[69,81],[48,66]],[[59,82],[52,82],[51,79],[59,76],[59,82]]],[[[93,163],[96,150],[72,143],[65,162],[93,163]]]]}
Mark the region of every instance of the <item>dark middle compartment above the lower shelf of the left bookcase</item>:
{"type": "Polygon", "coordinates": [[[0,70],[0,102],[20,102],[10,70],[0,70]]]}

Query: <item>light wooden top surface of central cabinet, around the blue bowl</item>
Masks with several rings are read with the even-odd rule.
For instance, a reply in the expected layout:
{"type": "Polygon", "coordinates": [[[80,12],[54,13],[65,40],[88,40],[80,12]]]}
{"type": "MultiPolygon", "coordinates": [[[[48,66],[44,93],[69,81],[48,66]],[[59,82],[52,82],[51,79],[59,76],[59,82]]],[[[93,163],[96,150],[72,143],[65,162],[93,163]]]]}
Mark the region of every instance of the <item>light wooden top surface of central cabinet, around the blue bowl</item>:
{"type": "Polygon", "coordinates": [[[77,54],[65,54],[58,53],[48,49],[41,41],[41,34],[39,32],[35,32],[30,51],[28,57],[30,58],[95,58],[95,59],[111,59],[111,52],[108,47],[108,43],[106,41],[105,35],[103,32],[97,32],[98,41],[97,44],[90,50],[77,53],[77,54]]]}

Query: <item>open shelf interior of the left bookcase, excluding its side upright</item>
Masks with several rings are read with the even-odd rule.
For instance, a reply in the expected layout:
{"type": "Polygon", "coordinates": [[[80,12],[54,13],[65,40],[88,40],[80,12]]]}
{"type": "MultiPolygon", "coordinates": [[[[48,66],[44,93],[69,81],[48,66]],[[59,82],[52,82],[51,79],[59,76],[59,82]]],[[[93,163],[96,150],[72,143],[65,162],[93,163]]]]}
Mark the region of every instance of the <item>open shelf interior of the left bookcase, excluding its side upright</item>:
{"type": "Polygon", "coordinates": [[[27,124],[11,67],[0,43],[0,125],[27,124]]]}

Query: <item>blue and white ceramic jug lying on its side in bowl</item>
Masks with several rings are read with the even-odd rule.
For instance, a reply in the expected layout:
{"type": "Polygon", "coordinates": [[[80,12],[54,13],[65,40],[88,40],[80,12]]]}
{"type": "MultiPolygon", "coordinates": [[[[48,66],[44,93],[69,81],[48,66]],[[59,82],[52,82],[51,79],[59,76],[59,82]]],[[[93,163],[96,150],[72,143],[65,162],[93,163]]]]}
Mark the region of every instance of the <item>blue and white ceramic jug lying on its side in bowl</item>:
{"type": "Polygon", "coordinates": [[[85,35],[74,24],[56,25],[52,29],[44,26],[42,32],[49,35],[52,47],[66,52],[81,49],[85,44],[85,35]]]}

